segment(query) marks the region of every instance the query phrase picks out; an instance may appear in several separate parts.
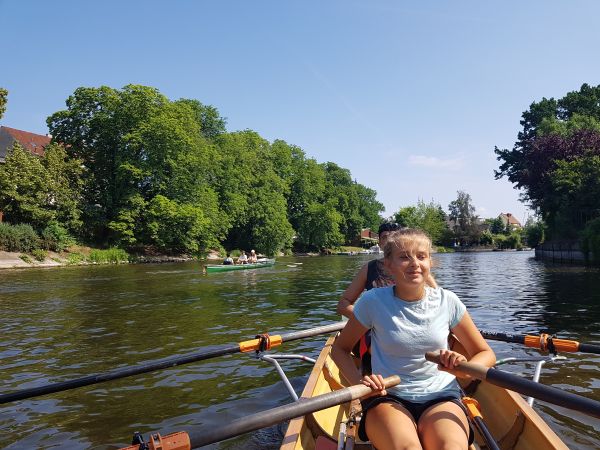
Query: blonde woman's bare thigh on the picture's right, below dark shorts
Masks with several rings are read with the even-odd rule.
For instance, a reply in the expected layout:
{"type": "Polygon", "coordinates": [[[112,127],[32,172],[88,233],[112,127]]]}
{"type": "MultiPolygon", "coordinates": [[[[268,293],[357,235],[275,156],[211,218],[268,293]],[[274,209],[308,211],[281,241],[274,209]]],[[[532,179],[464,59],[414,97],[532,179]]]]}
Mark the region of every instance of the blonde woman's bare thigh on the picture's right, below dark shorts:
{"type": "Polygon", "coordinates": [[[467,449],[469,422],[454,402],[437,403],[423,412],[418,433],[424,449],[467,449]]]}

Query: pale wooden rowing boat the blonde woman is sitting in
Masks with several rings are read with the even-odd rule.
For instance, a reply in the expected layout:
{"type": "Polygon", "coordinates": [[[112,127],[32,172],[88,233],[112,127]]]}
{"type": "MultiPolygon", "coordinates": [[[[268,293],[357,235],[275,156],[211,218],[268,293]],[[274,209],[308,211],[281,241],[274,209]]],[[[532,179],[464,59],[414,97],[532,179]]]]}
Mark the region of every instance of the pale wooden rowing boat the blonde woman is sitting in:
{"type": "MultiPolygon", "coordinates": [[[[306,383],[302,398],[311,398],[346,386],[340,371],[331,359],[335,336],[327,340],[306,383]]],[[[454,350],[461,351],[457,343],[454,350]]],[[[517,393],[482,382],[475,392],[469,392],[480,405],[483,420],[501,449],[538,450],[568,449],[542,418],[517,393]]],[[[283,439],[282,450],[329,450],[336,448],[371,449],[368,442],[358,438],[358,402],[345,403],[290,421],[283,439]],[[346,445],[338,440],[350,437],[346,445]],[[352,439],[355,439],[353,441],[352,439]]],[[[471,449],[486,448],[482,436],[475,432],[471,449]]]]}

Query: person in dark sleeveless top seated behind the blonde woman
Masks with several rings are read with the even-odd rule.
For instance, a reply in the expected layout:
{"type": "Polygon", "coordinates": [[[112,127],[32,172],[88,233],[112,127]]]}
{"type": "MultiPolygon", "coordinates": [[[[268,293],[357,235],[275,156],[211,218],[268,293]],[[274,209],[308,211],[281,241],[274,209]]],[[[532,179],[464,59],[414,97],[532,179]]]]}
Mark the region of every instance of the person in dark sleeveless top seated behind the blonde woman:
{"type": "MultiPolygon", "coordinates": [[[[377,230],[379,234],[379,246],[385,247],[390,233],[399,230],[401,227],[397,223],[384,222],[377,230]]],[[[370,290],[376,287],[383,287],[394,284],[394,280],[390,277],[383,265],[383,258],[373,259],[363,265],[360,271],[356,274],[350,286],[346,288],[342,297],[338,301],[337,312],[342,316],[350,319],[353,315],[354,303],[365,290],[370,290]]],[[[371,346],[371,333],[366,333],[361,337],[360,341],[354,349],[356,356],[362,360],[363,373],[369,373],[371,370],[371,357],[368,352],[371,346]]]]}

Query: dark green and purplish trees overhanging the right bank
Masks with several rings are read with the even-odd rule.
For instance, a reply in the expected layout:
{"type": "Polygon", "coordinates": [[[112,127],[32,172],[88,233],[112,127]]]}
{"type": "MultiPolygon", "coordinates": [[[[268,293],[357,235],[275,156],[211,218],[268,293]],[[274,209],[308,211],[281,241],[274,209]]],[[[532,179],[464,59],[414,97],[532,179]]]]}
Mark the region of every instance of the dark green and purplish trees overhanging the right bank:
{"type": "Polygon", "coordinates": [[[549,239],[579,240],[600,259],[600,86],[534,102],[521,125],[512,149],[495,149],[496,178],[522,189],[549,239]]]}

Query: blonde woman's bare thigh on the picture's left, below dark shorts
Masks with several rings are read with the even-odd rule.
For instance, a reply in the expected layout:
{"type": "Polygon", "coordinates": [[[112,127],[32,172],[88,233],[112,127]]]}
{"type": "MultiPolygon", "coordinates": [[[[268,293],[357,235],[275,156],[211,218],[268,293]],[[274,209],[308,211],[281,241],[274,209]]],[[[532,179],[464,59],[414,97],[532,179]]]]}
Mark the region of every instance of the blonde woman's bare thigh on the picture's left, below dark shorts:
{"type": "Polygon", "coordinates": [[[412,415],[398,403],[380,403],[369,409],[365,428],[378,450],[422,449],[412,415]]]}

